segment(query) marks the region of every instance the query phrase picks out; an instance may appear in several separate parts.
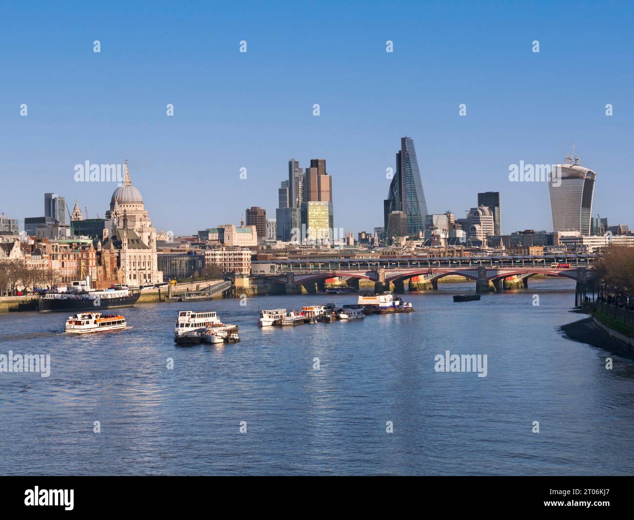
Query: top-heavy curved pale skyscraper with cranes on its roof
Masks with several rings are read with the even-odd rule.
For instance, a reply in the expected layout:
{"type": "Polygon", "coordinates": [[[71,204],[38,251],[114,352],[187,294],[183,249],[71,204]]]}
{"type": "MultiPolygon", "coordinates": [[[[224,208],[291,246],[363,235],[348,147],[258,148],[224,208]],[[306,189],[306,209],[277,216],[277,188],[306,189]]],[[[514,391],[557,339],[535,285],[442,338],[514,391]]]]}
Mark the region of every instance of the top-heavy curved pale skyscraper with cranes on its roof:
{"type": "Polygon", "coordinates": [[[592,195],[597,174],[579,166],[579,160],[557,164],[548,179],[553,231],[581,231],[590,235],[592,195]]]}

